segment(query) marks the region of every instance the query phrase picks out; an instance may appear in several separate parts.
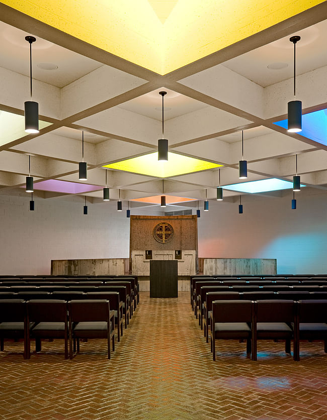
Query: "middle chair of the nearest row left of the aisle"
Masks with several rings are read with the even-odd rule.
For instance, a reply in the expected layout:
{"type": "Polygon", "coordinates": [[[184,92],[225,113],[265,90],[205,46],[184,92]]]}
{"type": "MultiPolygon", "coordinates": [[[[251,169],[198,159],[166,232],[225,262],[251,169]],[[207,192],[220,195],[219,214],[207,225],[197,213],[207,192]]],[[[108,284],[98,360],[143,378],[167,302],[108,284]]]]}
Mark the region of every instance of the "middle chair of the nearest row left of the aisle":
{"type": "Polygon", "coordinates": [[[64,339],[65,359],[68,358],[67,302],[59,299],[33,299],[27,302],[27,321],[34,322],[27,334],[27,352],[30,357],[30,339],[35,339],[35,351],[41,351],[42,339],[64,339]]]}

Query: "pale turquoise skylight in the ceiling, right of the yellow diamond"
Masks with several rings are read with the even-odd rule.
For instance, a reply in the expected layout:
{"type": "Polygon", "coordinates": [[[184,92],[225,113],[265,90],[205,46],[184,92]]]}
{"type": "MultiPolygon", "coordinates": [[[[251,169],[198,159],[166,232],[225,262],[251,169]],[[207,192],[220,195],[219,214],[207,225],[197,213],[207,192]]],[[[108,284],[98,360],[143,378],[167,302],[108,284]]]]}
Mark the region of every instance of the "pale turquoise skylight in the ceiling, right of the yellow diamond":
{"type": "MultiPolygon", "coordinates": [[[[258,193],[266,191],[277,191],[293,187],[293,182],[284,181],[278,178],[260,179],[259,181],[239,182],[238,184],[223,185],[224,189],[238,192],[258,193]]],[[[301,187],[305,187],[301,184],[301,187]]]]}

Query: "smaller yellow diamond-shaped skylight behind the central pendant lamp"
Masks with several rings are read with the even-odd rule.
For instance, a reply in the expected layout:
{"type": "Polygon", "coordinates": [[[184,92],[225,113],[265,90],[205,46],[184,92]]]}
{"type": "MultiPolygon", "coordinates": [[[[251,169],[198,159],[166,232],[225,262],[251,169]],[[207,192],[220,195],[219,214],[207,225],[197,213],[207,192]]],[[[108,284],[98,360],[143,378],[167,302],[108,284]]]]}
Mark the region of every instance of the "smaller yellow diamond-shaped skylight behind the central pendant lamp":
{"type": "Polygon", "coordinates": [[[105,168],[155,176],[158,178],[167,178],[169,176],[199,172],[207,169],[218,168],[219,166],[222,165],[172,152],[168,152],[168,161],[158,161],[158,154],[154,152],[138,156],[136,158],[104,165],[105,168]]]}

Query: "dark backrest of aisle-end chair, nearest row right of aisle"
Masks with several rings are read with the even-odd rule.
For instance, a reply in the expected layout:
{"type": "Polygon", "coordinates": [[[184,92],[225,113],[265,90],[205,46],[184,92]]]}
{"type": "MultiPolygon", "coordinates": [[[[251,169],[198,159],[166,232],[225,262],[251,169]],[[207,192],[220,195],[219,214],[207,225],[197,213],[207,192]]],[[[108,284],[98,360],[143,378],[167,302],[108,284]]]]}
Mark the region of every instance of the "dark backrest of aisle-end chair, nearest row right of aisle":
{"type": "Polygon", "coordinates": [[[251,300],[214,300],[213,319],[216,323],[238,323],[252,321],[251,300]]]}

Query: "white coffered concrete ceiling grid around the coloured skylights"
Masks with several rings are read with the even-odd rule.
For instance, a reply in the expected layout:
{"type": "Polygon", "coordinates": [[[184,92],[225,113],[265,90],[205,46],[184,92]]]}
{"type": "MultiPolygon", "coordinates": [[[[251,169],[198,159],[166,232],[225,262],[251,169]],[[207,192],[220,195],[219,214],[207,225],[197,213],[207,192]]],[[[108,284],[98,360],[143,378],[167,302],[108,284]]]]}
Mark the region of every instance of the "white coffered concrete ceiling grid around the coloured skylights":
{"type": "MultiPolygon", "coordinates": [[[[170,2],[170,8],[161,12],[156,2],[149,3],[161,13],[160,20],[167,22],[179,2],[170,2]]],[[[22,187],[31,155],[35,187],[37,181],[50,179],[94,185],[86,193],[75,192],[78,188],[69,190],[72,192],[36,189],[37,199],[83,202],[87,195],[89,201],[106,206],[102,200],[103,165],[156,152],[161,138],[160,90],[168,92],[165,138],[170,151],[223,165],[221,186],[239,182],[244,130],[249,181],[291,180],[297,154],[298,173],[306,185],[299,196],[327,193],[326,143],[289,134],[273,124],[287,118],[287,102],[292,99],[293,46],[289,37],[294,34],[301,35],[297,94],[303,114],[327,109],[326,4],[308,10],[307,19],[302,12],[298,19],[292,17],[289,25],[285,21],[280,39],[276,39],[274,31],[263,31],[253,35],[251,42],[247,39],[246,48],[242,47],[245,44],[235,43],[165,75],[92,45],[85,44],[83,54],[77,53],[79,41],[70,35],[58,32],[54,37],[51,28],[47,31],[42,26],[41,30],[32,25],[34,20],[22,18],[19,12],[8,13],[0,6],[0,12],[6,12],[0,15],[6,22],[0,22],[0,194],[27,196],[22,187]],[[27,22],[31,23],[29,32],[27,22]],[[306,27],[307,22],[312,25],[306,27]],[[23,115],[24,101],[29,99],[26,35],[37,38],[33,44],[33,89],[44,122],[38,135],[24,133],[24,119],[17,117],[23,115]],[[87,181],[78,181],[82,130],[87,181]]],[[[144,199],[130,202],[130,208],[160,208],[146,199],[162,194],[160,177],[107,169],[107,183],[113,200],[118,199],[120,189],[124,207],[127,200],[144,199]]],[[[195,208],[197,200],[204,199],[206,189],[210,205],[224,205],[223,201],[215,201],[218,184],[218,168],[166,177],[165,194],[177,197],[166,211],[195,208]]],[[[237,201],[239,194],[225,190],[224,200],[237,201]]],[[[290,189],[243,195],[246,200],[249,195],[278,199],[287,194],[291,198],[290,189]]]]}

